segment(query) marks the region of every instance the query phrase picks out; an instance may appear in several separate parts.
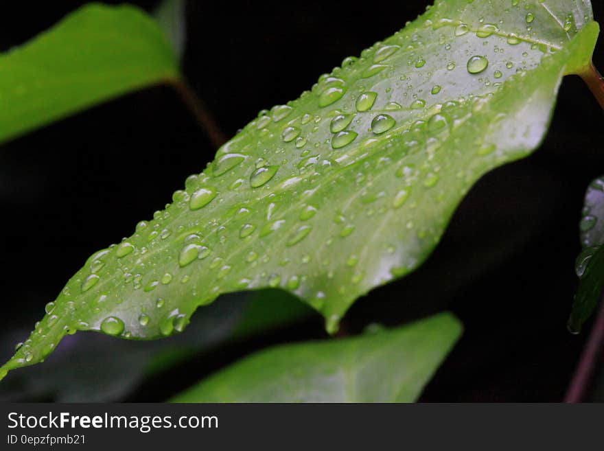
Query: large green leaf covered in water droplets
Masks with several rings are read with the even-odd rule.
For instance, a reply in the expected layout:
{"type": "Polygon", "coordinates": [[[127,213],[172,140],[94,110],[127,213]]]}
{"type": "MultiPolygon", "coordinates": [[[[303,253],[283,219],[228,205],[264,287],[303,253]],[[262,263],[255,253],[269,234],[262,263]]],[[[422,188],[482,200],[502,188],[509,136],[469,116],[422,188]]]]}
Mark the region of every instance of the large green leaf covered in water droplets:
{"type": "Polygon", "coordinates": [[[539,145],[598,32],[587,1],[439,1],[261,111],[165,211],[90,257],[1,371],[73,329],[170,335],[236,290],[288,290],[334,332],[428,257],[480,176],[539,145]]]}

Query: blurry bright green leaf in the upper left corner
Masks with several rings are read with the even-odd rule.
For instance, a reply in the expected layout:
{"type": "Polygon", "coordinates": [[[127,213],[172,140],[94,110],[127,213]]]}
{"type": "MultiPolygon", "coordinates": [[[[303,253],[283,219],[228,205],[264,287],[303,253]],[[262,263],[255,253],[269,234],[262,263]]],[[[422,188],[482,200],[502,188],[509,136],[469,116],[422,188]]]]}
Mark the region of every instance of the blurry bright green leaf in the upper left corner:
{"type": "Polygon", "coordinates": [[[0,56],[0,142],[134,89],[178,80],[174,51],[138,8],[86,5],[0,56]]]}

